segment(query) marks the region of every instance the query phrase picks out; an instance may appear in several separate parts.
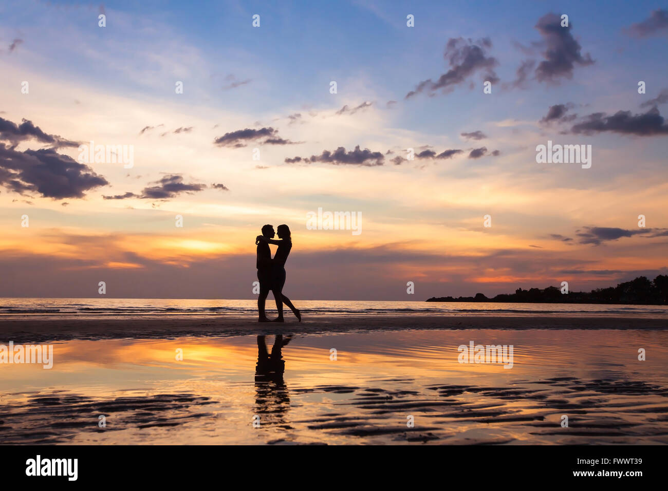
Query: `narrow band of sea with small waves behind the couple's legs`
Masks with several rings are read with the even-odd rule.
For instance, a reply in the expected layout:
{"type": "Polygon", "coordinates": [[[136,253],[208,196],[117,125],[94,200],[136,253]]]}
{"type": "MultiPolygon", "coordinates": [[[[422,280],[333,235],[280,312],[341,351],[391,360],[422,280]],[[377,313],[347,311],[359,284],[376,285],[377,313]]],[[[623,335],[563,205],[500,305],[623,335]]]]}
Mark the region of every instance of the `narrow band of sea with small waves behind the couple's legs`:
{"type": "MultiPolygon", "coordinates": [[[[303,313],[495,315],[633,315],[668,317],[668,305],[595,305],[561,303],[468,303],[295,300],[303,313]]],[[[267,301],[273,309],[273,300],[267,301]]],[[[0,315],[221,315],[257,314],[256,300],[188,299],[11,299],[0,298],[0,315]]]]}

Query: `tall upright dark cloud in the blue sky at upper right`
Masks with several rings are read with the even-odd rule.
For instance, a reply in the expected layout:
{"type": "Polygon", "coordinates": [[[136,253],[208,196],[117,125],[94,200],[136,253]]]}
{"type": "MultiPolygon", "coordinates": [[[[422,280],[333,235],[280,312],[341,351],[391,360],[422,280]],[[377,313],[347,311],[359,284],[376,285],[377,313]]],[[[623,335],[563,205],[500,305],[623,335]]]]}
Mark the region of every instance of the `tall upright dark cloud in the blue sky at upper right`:
{"type": "MultiPolygon", "coordinates": [[[[538,19],[536,29],[542,37],[540,45],[542,61],[535,70],[536,79],[548,84],[558,84],[561,78],[571,79],[575,65],[587,66],[594,63],[589,53],[582,55],[580,43],[570,33],[572,24],[561,27],[561,18],[556,13],[548,13],[538,19]]],[[[518,69],[518,78],[514,85],[520,86],[528,75],[531,60],[522,62],[518,69]]]]}

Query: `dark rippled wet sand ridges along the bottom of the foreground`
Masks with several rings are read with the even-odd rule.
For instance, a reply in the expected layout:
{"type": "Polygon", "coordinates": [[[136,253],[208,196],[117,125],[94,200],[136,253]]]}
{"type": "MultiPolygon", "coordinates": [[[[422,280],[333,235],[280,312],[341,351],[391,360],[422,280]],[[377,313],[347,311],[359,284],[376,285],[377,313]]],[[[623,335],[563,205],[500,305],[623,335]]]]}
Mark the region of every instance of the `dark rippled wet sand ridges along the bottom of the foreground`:
{"type": "MultiPolygon", "coordinates": [[[[207,420],[215,424],[224,419],[217,414],[220,401],[212,397],[186,392],[99,398],[41,392],[11,408],[0,405],[0,444],[184,443],[169,430],[184,430],[192,424],[202,425],[196,438],[206,444],[216,439],[227,444],[668,443],[668,407],[657,401],[666,397],[667,389],[641,381],[550,377],[499,387],[415,387],[411,382],[379,380],[377,385],[385,387],[293,389],[292,398],[297,401],[301,396],[342,397],[327,411],[295,419],[287,417],[289,396],[272,397],[275,389],[259,389],[258,400],[275,400],[255,407],[255,414],[274,431],[261,439],[244,434],[225,440],[206,428],[207,420]],[[409,387],[401,387],[402,382],[409,387]],[[107,415],[105,428],[96,424],[98,414],[107,415]],[[560,424],[563,414],[569,417],[567,428],[560,424]],[[415,426],[407,427],[406,415],[413,415],[415,426]],[[125,433],[123,440],[117,442],[115,432],[125,433]]],[[[251,414],[253,410],[248,411],[251,414]]],[[[242,421],[234,430],[249,427],[242,421]]]]}

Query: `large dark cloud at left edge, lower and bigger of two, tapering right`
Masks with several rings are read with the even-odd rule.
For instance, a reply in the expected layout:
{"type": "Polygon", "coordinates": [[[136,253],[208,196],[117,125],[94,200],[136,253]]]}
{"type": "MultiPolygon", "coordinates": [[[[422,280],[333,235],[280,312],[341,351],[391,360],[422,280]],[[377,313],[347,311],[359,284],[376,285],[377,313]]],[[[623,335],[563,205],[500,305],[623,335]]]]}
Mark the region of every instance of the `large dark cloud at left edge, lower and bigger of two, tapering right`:
{"type": "Polygon", "coordinates": [[[0,143],[0,186],[7,190],[59,200],[83,198],[86,191],[107,184],[92,168],[53,148],[17,152],[0,143]]]}

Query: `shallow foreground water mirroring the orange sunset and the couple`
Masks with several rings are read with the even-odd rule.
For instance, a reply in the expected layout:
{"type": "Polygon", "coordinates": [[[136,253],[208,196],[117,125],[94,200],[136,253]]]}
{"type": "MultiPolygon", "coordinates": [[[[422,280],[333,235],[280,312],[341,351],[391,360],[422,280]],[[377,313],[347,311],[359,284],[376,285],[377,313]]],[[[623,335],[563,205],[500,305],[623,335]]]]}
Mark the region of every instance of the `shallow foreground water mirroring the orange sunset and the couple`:
{"type": "Polygon", "coordinates": [[[50,370],[0,365],[0,443],[665,444],[667,344],[484,329],[66,341],[50,370]],[[512,369],[458,363],[469,341],[513,345],[512,369]]]}

